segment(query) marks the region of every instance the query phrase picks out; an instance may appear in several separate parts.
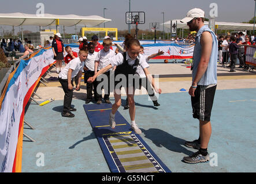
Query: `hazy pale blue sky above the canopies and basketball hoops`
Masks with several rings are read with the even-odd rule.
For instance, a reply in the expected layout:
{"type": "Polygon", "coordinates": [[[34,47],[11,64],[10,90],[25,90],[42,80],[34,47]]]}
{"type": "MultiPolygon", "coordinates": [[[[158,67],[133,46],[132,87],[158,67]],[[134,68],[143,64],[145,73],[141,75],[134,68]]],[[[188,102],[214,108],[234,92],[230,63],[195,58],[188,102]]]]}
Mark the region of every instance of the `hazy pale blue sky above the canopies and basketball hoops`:
{"type": "MultiPolygon", "coordinates": [[[[50,14],[77,14],[80,16],[98,15],[103,17],[103,8],[106,7],[105,17],[111,22],[105,24],[106,27],[127,29],[125,24],[125,11],[129,9],[129,0],[0,0],[0,13],[29,13],[36,14],[36,4],[44,4],[45,13],[50,14]]],[[[210,3],[217,3],[218,17],[216,21],[243,22],[248,21],[254,16],[254,0],[131,0],[132,11],[145,11],[146,23],[139,25],[139,29],[149,29],[150,22],[163,22],[171,19],[181,19],[188,10],[199,7],[209,16],[210,3]]],[[[1,25],[2,26],[2,25],[1,25]]],[[[103,24],[100,25],[103,27],[103,24]]],[[[11,29],[10,26],[2,26],[4,29],[11,29]]],[[[16,31],[18,28],[15,28],[16,31]]],[[[24,26],[24,30],[29,29],[33,32],[38,30],[38,26],[24,26]]],[[[162,30],[162,28],[160,28],[162,30]]],[[[66,32],[72,33],[74,27],[66,28],[66,32]]]]}

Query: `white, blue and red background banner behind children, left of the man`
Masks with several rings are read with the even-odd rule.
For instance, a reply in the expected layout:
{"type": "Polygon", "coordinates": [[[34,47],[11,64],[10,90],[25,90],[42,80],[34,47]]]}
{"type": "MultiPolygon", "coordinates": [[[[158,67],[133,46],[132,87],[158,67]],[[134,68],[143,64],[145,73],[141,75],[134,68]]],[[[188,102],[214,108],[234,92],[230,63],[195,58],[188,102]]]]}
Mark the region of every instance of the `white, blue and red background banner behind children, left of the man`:
{"type": "MultiPolygon", "coordinates": [[[[144,42],[143,42],[144,43],[144,42]]],[[[121,44],[121,43],[119,43],[121,44]]],[[[140,43],[142,44],[142,43],[140,43]]],[[[65,47],[68,45],[65,45],[65,47]]],[[[78,44],[69,44],[72,51],[79,52],[78,44]]],[[[145,55],[152,55],[157,53],[158,50],[164,51],[164,55],[154,57],[153,59],[190,59],[193,57],[194,45],[179,45],[175,43],[156,43],[156,44],[142,44],[144,47],[145,55]]],[[[113,51],[116,50],[116,46],[113,45],[113,51]]]]}

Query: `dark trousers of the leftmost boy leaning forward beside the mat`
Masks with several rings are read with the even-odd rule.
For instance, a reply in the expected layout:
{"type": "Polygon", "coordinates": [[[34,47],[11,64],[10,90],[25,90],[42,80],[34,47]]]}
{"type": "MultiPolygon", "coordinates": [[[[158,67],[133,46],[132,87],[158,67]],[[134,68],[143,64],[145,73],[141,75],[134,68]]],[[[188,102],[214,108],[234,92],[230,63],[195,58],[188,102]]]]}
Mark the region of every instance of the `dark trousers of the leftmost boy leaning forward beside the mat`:
{"type": "Polygon", "coordinates": [[[68,79],[61,79],[61,78],[58,78],[58,79],[59,79],[62,89],[65,93],[64,104],[63,104],[63,113],[66,113],[66,112],[70,113],[71,102],[72,102],[72,98],[73,98],[73,90],[68,89],[68,79]]]}

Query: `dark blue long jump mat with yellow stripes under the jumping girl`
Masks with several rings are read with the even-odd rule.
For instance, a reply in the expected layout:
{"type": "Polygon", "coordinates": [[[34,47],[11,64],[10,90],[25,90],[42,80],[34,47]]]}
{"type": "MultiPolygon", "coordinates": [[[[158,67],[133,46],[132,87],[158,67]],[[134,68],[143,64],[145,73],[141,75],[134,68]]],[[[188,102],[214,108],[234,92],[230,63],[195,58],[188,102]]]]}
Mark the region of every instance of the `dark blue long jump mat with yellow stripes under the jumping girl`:
{"type": "Polygon", "coordinates": [[[110,127],[112,104],[84,105],[84,110],[112,173],[170,173],[118,111],[116,127],[110,127]]]}

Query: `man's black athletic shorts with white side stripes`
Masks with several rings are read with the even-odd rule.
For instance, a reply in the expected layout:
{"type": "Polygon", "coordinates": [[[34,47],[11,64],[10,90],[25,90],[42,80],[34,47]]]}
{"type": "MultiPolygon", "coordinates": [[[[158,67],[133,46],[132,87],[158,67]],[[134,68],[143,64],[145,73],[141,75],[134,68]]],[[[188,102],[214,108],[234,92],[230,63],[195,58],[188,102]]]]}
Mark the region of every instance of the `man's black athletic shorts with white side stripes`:
{"type": "Polygon", "coordinates": [[[216,87],[217,85],[196,87],[195,97],[191,97],[194,118],[210,121],[216,87]]]}

